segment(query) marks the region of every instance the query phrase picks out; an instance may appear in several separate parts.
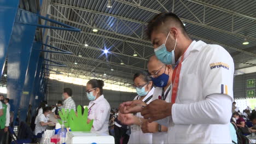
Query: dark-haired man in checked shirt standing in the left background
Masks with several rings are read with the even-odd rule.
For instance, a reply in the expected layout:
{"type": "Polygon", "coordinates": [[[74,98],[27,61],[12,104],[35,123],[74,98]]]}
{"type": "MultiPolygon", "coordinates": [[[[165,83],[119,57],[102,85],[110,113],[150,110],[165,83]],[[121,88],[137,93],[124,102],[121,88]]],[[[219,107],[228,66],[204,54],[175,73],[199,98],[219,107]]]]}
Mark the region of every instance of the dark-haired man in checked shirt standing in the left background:
{"type": "Polygon", "coordinates": [[[71,88],[64,88],[62,94],[63,106],[62,109],[68,109],[69,111],[73,109],[76,110],[74,100],[72,99],[72,89],[71,88]]]}

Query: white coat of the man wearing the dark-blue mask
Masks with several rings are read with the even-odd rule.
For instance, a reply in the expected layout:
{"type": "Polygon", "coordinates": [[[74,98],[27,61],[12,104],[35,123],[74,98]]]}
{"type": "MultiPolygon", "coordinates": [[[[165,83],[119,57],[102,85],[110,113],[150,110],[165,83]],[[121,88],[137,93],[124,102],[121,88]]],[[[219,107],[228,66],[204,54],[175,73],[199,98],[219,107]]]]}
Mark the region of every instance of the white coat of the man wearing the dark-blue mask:
{"type": "MultiPolygon", "coordinates": [[[[168,95],[165,99],[165,101],[167,103],[170,103],[170,97],[171,97],[171,93],[172,93],[172,84],[170,86],[168,86],[168,88],[171,87],[171,90],[168,92],[168,95]]],[[[164,95],[166,94],[168,88],[166,89],[166,91],[164,92],[164,95]]],[[[161,97],[162,95],[162,87],[156,87],[155,88],[155,91],[153,93],[153,98],[152,98],[152,101],[153,100],[156,100],[156,99],[159,99],[159,96],[161,97]]],[[[168,121],[169,121],[169,117],[166,117],[166,118],[163,118],[163,119],[160,119],[158,121],[155,121],[161,125],[164,125],[165,127],[168,127],[168,121]]],[[[153,133],[152,134],[152,143],[168,143],[168,137],[167,137],[167,132],[157,132],[157,133],[153,133]]]]}

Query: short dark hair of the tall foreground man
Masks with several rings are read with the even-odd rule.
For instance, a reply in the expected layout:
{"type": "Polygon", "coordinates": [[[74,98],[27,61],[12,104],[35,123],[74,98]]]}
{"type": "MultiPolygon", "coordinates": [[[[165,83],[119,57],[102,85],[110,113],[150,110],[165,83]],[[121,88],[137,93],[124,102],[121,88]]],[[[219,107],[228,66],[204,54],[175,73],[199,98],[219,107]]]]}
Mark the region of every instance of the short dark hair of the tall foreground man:
{"type": "Polygon", "coordinates": [[[152,32],[155,29],[159,28],[160,25],[163,25],[168,20],[173,20],[174,22],[176,22],[178,24],[177,26],[179,28],[181,28],[181,31],[183,32],[183,34],[188,36],[188,33],[183,25],[183,22],[181,21],[181,19],[179,19],[179,17],[176,14],[160,13],[160,14],[156,15],[152,20],[150,20],[150,22],[148,24],[148,31],[147,31],[148,38],[151,39],[152,32]]]}

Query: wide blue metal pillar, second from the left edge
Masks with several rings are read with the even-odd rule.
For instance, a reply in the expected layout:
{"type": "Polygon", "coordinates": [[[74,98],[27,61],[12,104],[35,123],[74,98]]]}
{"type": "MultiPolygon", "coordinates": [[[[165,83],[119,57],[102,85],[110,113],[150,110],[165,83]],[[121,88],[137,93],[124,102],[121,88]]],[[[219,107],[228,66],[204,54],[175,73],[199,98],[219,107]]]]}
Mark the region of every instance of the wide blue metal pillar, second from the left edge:
{"type": "Polygon", "coordinates": [[[25,10],[18,10],[8,49],[7,96],[13,100],[14,124],[18,116],[22,89],[36,32],[36,26],[21,22],[37,23],[38,17],[25,10]]]}

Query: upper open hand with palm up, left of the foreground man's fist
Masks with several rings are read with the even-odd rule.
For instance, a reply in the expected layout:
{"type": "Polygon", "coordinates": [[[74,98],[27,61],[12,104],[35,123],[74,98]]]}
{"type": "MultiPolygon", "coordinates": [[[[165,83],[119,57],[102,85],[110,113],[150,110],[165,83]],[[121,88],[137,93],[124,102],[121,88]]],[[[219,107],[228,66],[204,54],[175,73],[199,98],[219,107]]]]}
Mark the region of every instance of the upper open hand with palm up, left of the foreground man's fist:
{"type": "Polygon", "coordinates": [[[126,101],[120,104],[119,111],[123,114],[141,112],[143,106],[146,105],[142,100],[126,101]]]}

